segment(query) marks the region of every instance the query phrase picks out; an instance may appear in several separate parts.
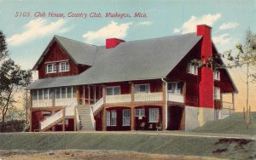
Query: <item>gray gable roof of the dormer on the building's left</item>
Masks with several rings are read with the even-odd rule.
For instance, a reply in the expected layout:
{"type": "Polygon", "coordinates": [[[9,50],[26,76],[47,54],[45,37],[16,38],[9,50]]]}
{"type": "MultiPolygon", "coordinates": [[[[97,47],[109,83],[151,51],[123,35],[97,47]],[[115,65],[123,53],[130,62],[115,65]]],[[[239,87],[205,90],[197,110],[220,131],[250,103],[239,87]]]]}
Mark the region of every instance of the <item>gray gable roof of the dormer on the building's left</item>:
{"type": "Polygon", "coordinates": [[[87,43],[81,43],[66,37],[54,36],[44,53],[40,56],[35,66],[32,70],[37,70],[38,65],[44,59],[44,56],[48,53],[52,43],[57,42],[61,49],[73,60],[76,65],[87,65],[92,66],[93,60],[96,54],[96,46],[87,43]]]}

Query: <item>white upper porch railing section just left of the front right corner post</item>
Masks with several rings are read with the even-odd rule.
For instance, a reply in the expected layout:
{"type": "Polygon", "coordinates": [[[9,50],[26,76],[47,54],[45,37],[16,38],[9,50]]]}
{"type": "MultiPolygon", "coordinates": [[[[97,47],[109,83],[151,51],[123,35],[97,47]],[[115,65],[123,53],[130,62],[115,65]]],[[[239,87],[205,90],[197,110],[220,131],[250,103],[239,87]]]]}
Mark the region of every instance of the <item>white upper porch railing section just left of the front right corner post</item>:
{"type": "Polygon", "coordinates": [[[162,92],[134,94],[134,101],[158,101],[163,100],[162,92]]]}

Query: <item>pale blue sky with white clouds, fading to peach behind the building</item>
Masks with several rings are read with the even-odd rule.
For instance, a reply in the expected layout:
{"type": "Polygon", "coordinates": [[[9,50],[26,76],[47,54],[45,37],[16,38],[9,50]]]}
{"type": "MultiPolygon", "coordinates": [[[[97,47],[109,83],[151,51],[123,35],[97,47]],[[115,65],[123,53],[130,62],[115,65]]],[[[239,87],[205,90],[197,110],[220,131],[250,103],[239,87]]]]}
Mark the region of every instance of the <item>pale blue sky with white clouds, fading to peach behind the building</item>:
{"type": "MultiPolygon", "coordinates": [[[[224,53],[234,49],[236,43],[245,42],[248,28],[256,32],[253,15],[256,15],[256,0],[0,0],[0,30],[7,37],[11,58],[24,69],[32,68],[54,35],[104,45],[109,37],[125,41],[166,37],[195,32],[196,25],[207,24],[212,26],[213,43],[219,53],[224,53]],[[130,16],[106,17],[108,13],[130,16]],[[146,17],[134,17],[135,13],[146,17]],[[99,14],[101,17],[90,17],[99,14]]],[[[245,73],[241,69],[230,72],[239,86],[236,103],[241,111],[245,73]]],[[[251,104],[256,104],[255,88],[251,84],[251,104]]],[[[252,107],[256,111],[256,106],[252,107]]]]}

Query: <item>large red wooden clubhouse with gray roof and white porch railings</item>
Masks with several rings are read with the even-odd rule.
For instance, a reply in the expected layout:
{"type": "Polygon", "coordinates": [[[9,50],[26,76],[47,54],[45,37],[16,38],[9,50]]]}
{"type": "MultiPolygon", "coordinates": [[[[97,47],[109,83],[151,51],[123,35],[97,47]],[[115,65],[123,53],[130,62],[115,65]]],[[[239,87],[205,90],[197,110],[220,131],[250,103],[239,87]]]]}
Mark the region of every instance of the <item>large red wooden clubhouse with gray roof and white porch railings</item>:
{"type": "Polygon", "coordinates": [[[109,38],[106,46],[55,36],[33,67],[31,131],[195,129],[235,108],[228,71],[191,64],[212,55],[205,25],[172,37],[109,38]]]}

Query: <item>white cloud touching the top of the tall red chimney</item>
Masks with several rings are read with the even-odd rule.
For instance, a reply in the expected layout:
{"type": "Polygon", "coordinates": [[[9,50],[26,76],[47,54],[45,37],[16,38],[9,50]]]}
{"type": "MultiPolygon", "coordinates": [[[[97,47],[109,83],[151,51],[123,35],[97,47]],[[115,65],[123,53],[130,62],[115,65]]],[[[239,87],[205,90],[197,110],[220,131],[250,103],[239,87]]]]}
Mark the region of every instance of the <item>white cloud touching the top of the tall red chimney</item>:
{"type": "Polygon", "coordinates": [[[188,33],[196,30],[196,25],[206,24],[212,26],[216,20],[221,17],[221,14],[204,14],[201,17],[192,15],[190,19],[183,23],[180,28],[174,28],[174,33],[188,33]]]}

